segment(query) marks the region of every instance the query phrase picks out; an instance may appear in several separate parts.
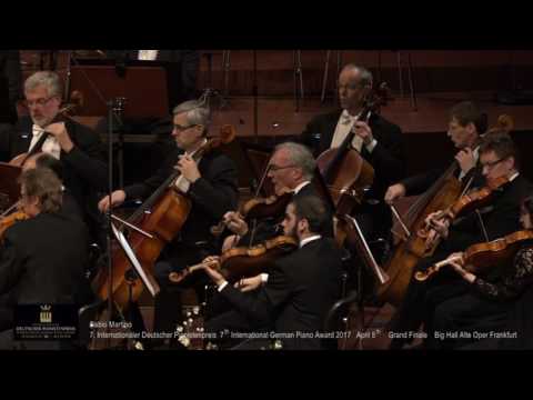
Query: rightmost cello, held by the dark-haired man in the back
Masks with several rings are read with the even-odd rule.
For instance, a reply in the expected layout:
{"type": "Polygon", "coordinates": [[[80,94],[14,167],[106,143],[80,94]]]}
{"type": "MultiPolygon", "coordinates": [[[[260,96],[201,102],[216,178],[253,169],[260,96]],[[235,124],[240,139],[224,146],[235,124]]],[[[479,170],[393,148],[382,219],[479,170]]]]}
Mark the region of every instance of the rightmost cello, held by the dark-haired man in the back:
{"type": "MultiPolygon", "coordinates": [[[[511,117],[500,116],[496,127],[493,129],[509,131],[512,128],[513,120],[511,117]]],[[[455,178],[459,169],[460,164],[454,160],[433,186],[419,197],[409,209],[405,218],[406,223],[403,224],[409,236],[405,236],[403,241],[396,244],[389,260],[383,266],[391,279],[378,288],[376,297],[380,301],[390,302],[396,307],[400,306],[413,278],[415,266],[421,258],[431,256],[435,249],[436,246],[429,247],[428,236],[423,233],[424,230],[428,230],[425,220],[431,213],[450,210],[470,189],[473,179],[461,182],[455,178]]],[[[392,209],[393,213],[396,213],[395,209],[392,209]]]]}

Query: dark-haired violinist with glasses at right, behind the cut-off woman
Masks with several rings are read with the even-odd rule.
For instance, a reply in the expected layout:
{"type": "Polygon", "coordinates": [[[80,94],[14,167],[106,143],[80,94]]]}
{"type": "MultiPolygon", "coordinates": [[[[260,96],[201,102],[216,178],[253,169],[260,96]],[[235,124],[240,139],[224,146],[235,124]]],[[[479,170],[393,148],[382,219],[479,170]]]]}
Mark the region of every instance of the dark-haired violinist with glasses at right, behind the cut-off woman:
{"type": "MultiPolygon", "coordinates": [[[[531,193],[532,184],[519,172],[517,152],[512,138],[505,131],[492,131],[485,134],[480,144],[480,166],[485,180],[505,177],[507,183],[496,189],[487,206],[480,207],[466,216],[450,220],[428,218],[433,229],[444,239],[432,257],[423,258],[415,267],[425,271],[435,262],[451,253],[484,241],[502,238],[521,229],[520,214],[523,199],[531,193]]],[[[411,281],[405,299],[391,322],[394,332],[415,331],[422,322],[425,309],[424,298],[430,288],[456,280],[455,274],[444,271],[431,281],[411,281]]],[[[457,287],[447,286],[441,296],[456,296],[457,287]]],[[[405,333],[404,336],[409,336],[405,333]]],[[[406,341],[400,336],[393,339],[391,347],[400,348],[406,341]]]]}

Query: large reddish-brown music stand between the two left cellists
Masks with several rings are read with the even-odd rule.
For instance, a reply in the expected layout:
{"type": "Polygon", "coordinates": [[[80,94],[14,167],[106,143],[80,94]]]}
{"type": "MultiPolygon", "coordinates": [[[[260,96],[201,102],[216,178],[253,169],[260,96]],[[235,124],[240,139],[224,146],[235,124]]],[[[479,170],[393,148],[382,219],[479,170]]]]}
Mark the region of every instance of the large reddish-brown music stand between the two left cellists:
{"type": "MultiPolygon", "coordinates": [[[[150,133],[154,127],[168,126],[174,98],[182,91],[181,66],[173,62],[77,59],[69,66],[70,92],[80,101],[80,116],[105,116],[107,100],[122,104],[115,110],[113,133],[117,133],[118,181],[123,187],[123,134],[150,133]]],[[[113,139],[114,142],[114,139],[113,139]]]]}

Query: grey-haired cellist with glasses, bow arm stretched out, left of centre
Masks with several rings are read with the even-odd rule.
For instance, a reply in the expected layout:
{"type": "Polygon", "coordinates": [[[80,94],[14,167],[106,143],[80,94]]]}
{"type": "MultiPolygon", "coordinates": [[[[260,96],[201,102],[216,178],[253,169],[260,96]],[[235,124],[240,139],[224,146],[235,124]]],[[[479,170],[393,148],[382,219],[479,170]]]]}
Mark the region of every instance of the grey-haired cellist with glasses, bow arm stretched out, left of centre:
{"type": "Polygon", "coordinates": [[[169,154],[155,174],[142,183],[129,186],[104,197],[99,208],[105,211],[110,204],[120,206],[125,199],[145,199],[153,193],[177,169],[181,172],[175,189],[185,193],[192,208],[178,237],[168,246],[154,274],[161,286],[155,303],[155,328],[172,331],[179,319],[179,298],[167,290],[169,273],[200,262],[208,254],[218,253],[210,228],[222,219],[238,202],[237,167],[220,151],[205,153],[199,162],[193,152],[207,142],[210,121],[209,109],[199,101],[190,100],[173,110],[173,131],[177,148],[169,154]],[[165,307],[162,310],[162,307],[165,307]],[[167,316],[163,316],[167,313],[167,316]]]}

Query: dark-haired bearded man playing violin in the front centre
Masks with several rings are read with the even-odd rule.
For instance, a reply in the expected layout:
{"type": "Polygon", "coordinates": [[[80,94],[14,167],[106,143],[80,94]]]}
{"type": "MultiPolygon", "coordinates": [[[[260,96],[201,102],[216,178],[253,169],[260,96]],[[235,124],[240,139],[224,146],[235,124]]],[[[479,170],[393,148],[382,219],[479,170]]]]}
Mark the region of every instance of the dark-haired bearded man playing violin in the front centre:
{"type": "MultiPolygon", "coordinates": [[[[243,293],[229,284],[217,267],[205,271],[219,296],[233,311],[209,320],[205,331],[224,337],[224,330],[275,332],[286,350],[323,349],[329,309],[340,297],[341,251],[333,239],[322,237],[326,220],[323,202],[314,196],[298,197],[286,207],[284,234],[298,239],[300,249],[273,262],[269,280],[258,291],[243,293]]],[[[214,261],[217,258],[208,258],[214,261]]],[[[266,337],[269,338],[269,336],[266,337]]]]}

